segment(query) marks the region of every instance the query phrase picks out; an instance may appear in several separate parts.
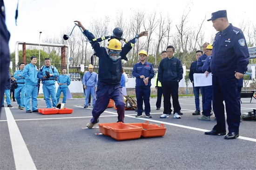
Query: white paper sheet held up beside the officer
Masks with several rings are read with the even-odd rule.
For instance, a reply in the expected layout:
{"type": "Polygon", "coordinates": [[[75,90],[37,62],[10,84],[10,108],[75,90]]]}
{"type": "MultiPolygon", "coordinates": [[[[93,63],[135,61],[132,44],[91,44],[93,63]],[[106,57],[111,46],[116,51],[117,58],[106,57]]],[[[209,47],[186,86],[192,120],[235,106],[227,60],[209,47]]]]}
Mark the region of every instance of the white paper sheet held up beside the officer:
{"type": "Polygon", "coordinates": [[[194,86],[202,87],[212,85],[212,73],[209,73],[207,78],[205,73],[194,73],[194,86]]]}

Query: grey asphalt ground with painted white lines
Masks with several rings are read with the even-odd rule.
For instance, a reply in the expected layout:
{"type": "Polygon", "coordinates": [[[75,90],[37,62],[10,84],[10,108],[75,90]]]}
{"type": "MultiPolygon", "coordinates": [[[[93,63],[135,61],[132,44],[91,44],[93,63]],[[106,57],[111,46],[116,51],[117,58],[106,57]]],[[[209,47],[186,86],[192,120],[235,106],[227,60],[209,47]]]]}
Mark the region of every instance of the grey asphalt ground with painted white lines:
{"type": "MultiPolygon", "coordinates": [[[[156,98],[150,99],[153,118],[135,118],[135,111],[125,111],[125,123],[164,124],[165,136],[117,141],[100,133],[99,128],[84,129],[92,118],[92,106],[84,109],[84,99],[67,100],[72,114],[43,115],[13,108],[2,108],[0,115],[0,170],[155,170],[155,169],[255,169],[256,122],[242,121],[240,137],[204,135],[216,124],[193,116],[194,98],[179,98],[181,119],[159,118],[156,98]]],[[[202,101],[202,100],[200,100],[202,101]]],[[[256,100],[242,98],[241,112],[252,111],[256,100]]],[[[6,103],[5,103],[6,106],[6,103]]],[[[38,108],[45,108],[44,100],[38,108]]],[[[202,108],[202,107],[201,107],[202,108]]],[[[143,115],[144,116],[144,115],[143,115]]],[[[117,121],[114,108],[101,114],[100,123],[117,121]]],[[[98,125],[97,125],[98,126],[98,125]]],[[[226,126],[228,128],[228,126],[226,126]]]]}

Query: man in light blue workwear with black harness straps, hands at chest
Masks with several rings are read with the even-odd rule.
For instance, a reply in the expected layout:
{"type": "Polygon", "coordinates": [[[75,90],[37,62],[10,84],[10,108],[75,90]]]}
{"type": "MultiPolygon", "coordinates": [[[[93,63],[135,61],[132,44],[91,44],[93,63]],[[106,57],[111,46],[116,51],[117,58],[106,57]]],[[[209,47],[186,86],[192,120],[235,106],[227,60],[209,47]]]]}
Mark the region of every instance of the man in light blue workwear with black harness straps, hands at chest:
{"type": "Polygon", "coordinates": [[[51,100],[50,95],[53,102],[53,107],[56,107],[57,105],[57,98],[56,98],[56,86],[55,86],[55,77],[59,76],[59,72],[51,65],[51,61],[49,58],[45,59],[45,65],[40,68],[40,71],[37,74],[37,78],[42,79],[43,84],[43,93],[45,98],[45,103],[47,105],[47,108],[51,108],[51,100]],[[50,73],[50,77],[47,78],[46,72],[50,73]]]}

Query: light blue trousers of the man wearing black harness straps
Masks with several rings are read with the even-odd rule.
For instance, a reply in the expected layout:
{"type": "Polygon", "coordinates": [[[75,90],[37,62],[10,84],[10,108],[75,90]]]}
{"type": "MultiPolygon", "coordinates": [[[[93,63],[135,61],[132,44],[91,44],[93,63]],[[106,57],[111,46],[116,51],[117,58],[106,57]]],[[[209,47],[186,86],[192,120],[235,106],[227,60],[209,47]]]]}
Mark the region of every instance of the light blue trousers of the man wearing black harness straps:
{"type": "Polygon", "coordinates": [[[44,93],[44,98],[45,98],[45,103],[47,105],[47,108],[51,108],[51,100],[50,100],[50,95],[52,98],[53,102],[53,107],[56,107],[57,105],[57,98],[56,98],[56,86],[54,85],[43,85],[43,93],[44,93]]]}

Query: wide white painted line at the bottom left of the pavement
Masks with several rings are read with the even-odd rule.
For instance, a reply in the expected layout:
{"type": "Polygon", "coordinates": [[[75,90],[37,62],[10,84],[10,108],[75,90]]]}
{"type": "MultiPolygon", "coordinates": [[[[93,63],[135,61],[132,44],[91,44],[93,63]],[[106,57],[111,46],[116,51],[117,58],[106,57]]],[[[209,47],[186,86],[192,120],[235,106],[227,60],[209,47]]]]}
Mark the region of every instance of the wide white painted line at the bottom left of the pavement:
{"type": "Polygon", "coordinates": [[[16,170],[36,170],[20,130],[9,108],[5,108],[16,170]]]}

